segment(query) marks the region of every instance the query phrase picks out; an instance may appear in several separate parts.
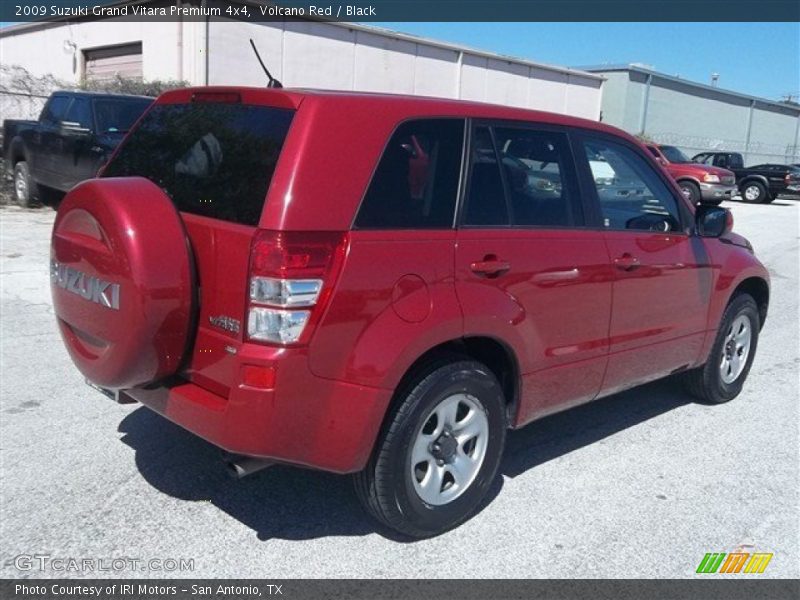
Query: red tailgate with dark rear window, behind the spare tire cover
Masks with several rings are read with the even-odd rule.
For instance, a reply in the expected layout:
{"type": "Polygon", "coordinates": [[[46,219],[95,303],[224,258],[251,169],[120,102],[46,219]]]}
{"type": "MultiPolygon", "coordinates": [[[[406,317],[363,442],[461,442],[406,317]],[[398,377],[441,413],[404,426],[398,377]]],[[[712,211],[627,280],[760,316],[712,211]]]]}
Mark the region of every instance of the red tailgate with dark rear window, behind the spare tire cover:
{"type": "Polygon", "coordinates": [[[204,101],[155,105],[103,174],[146,177],[181,212],[199,309],[184,375],[222,396],[243,341],[250,246],[294,115],[237,98],[211,93],[204,101]]]}

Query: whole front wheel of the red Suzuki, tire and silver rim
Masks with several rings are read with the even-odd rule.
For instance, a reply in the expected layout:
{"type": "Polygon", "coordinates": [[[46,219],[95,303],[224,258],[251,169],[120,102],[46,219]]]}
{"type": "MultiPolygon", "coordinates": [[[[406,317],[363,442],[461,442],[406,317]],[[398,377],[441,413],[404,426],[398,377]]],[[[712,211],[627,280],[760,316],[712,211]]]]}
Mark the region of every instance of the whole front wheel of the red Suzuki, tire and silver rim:
{"type": "Polygon", "coordinates": [[[722,316],[708,361],[684,375],[689,393],[708,404],[738,396],[756,355],[759,329],[755,300],[748,294],[734,297],[722,316]]]}

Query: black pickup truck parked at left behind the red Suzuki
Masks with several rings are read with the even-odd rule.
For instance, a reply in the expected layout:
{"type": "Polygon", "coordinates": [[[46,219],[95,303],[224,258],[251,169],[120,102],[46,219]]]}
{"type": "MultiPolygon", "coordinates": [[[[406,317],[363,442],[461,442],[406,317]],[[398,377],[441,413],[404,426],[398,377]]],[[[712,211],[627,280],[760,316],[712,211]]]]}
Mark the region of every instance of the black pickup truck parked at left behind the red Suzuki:
{"type": "Polygon", "coordinates": [[[153,102],[146,96],[54,92],[38,121],[3,121],[3,159],[17,202],[94,177],[153,102]]]}

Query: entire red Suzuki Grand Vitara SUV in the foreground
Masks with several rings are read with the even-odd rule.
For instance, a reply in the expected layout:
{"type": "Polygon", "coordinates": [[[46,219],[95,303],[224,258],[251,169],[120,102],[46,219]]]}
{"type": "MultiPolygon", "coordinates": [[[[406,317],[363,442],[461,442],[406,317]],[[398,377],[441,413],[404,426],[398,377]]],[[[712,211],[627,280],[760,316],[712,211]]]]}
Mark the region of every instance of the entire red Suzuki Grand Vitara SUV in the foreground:
{"type": "Polygon", "coordinates": [[[409,536],[467,519],[508,428],[680,373],[742,389],[768,275],[631,136],[432,98],[198,88],[61,204],[90,383],[231,453],[355,473],[409,536]]]}

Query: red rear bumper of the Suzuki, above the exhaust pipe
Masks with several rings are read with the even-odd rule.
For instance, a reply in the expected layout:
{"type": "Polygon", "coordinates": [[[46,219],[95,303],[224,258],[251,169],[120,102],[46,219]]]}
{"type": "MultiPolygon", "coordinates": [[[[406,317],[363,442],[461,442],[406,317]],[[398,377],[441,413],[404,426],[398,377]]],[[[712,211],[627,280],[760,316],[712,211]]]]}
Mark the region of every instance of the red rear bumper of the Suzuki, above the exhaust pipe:
{"type": "Polygon", "coordinates": [[[275,389],[238,385],[227,398],[188,381],[122,394],[234,454],[337,473],[359,471],[391,391],[322,379],[307,364],[305,351],[284,350],[274,362],[275,389]]]}

